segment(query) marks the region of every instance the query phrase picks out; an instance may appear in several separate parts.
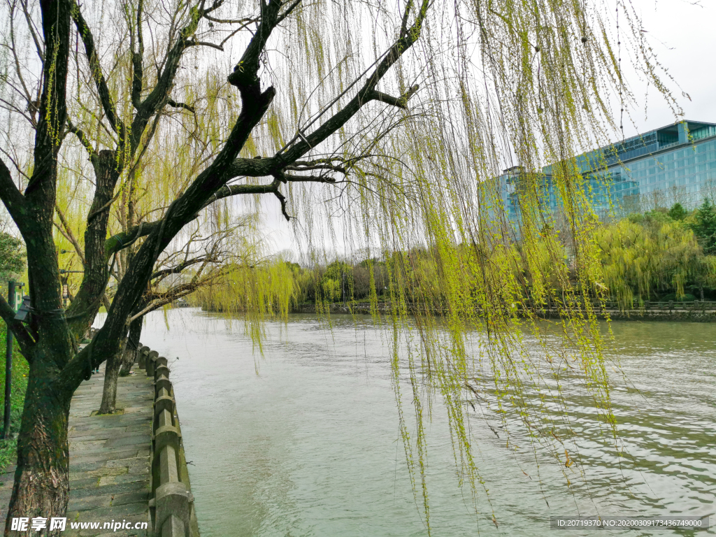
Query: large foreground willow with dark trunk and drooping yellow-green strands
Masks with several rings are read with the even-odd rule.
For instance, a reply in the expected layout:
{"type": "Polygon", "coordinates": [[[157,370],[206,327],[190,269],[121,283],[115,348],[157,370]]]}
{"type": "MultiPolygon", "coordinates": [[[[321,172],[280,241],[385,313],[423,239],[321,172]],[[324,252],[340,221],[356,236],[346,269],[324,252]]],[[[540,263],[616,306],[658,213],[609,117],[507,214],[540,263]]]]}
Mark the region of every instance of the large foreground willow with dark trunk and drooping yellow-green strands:
{"type": "MultiPolygon", "coordinates": [[[[644,76],[668,92],[629,3],[608,7],[574,0],[45,0],[38,13],[8,0],[3,105],[13,130],[6,132],[0,198],[26,243],[32,297],[25,323],[0,303],[30,364],[8,517],[62,516],[74,390],[120,349],[165,248],[209,205],[238,195],[274,199],[307,253],[342,235],[347,248],[383,258],[396,397],[400,403],[407,387],[417,417],[410,425],[401,411],[400,430],[428,527],[423,422],[435,393],[448,409],[455,463],[477,498],[461,403],[463,390],[480,390],[470,375],[468,331],[488,327],[493,375],[479,382],[493,383],[498,406],[514,405],[531,431],[544,430],[545,416],[559,422],[565,415],[543,397],[562,367],[536,324],[553,294],[535,276],[546,260],[567,289],[565,332],[581,335],[569,339],[579,357],[575,382],[589,389],[614,433],[596,321],[589,306],[579,307],[580,293],[599,293],[601,266],[591,241],[595,217],[572,155],[619,130],[610,110],[614,100],[624,109],[631,99],[621,71],[626,47],[644,76]],[[222,69],[223,92],[204,103],[211,120],[202,140],[170,111],[195,113],[199,78],[222,69]],[[25,146],[16,134],[22,118],[34,137],[25,146]],[[183,187],[168,203],[147,213],[156,219],[127,219],[124,231],[108,236],[110,209],[130,191],[162,128],[184,137],[173,158],[191,154],[198,165],[185,168],[183,187]],[[89,158],[83,175],[93,188],[84,208],[82,283],[65,310],[53,221],[57,193],[72,173],[67,161],[77,155],[89,158]],[[569,216],[569,265],[540,210],[538,170],[548,163],[569,216]],[[513,164],[524,170],[518,253],[493,180],[513,164]],[[105,324],[78,352],[110,269],[130,244],[138,248],[121,260],[125,274],[105,324]],[[406,252],[416,245],[430,252],[429,271],[411,267],[406,252]],[[513,270],[517,255],[530,268],[528,280],[513,270]],[[579,286],[569,285],[570,270],[579,286]],[[524,323],[545,346],[546,362],[524,352],[524,323]],[[410,347],[407,362],[401,341],[410,347]],[[405,384],[403,369],[412,382],[405,384]],[[423,372],[433,390],[420,390],[423,372]],[[530,397],[533,389],[542,397],[530,397]]],[[[566,450],[560,455],[551,437],[535,436],[569,467],[566,450]]]]}

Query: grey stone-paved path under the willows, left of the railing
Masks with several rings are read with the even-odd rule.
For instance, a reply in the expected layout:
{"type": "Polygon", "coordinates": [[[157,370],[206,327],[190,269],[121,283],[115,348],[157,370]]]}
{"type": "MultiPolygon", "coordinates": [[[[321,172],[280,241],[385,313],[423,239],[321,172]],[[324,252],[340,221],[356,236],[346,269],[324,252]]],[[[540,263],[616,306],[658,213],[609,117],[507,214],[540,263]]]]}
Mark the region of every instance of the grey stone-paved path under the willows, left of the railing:
{"type": "MultiPolygon", "coordinates": [[[[148,522],[150,435],[153,386],[137,374],[120,377],[117,408],[122,414],[96,415],[102,402],[104,365],[82,382],[69,410],[69,505],[63,536],[146,536],[146,530],[72,530],[70,522],[148,522]],[[95,414],[95,415],[92,415],[95,414]]],[[[0,475],[0,535],[4,532],[14,465],[0,475]]],[[[102,524],[100,524],[100,527],[102,524]]]]}

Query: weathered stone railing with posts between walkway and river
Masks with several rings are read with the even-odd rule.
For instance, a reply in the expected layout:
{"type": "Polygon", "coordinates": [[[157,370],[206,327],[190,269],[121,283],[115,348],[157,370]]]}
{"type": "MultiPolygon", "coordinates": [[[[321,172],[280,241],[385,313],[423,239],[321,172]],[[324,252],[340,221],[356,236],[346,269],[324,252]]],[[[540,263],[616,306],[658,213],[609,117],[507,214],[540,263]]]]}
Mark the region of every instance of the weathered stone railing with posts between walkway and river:
{"type": "Polygon", "coordinates": [[[152,498],[150,515],[156,537],[199,537],[189,472],[169,380],[167,359],[140,344],[137,361],[154,379],[152,425],[152,498]]]}

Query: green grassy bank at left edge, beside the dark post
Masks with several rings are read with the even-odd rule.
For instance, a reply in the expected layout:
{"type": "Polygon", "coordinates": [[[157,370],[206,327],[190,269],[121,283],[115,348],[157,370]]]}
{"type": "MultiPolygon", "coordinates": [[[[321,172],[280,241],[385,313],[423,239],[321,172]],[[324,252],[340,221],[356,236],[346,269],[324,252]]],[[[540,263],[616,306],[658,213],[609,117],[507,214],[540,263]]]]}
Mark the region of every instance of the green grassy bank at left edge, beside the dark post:
{"type": "MultiPolygon", "coordinates": [[[[4,413],[5,400],[5,346],[6,346],[6,329],[5,323],[0,323],[0,420],[4,413]]],[[[27,390],[27,375],[29,374],[29,367],[27,362],[20,354],[17,342],[14,342],[14,350],[12,356],[12,397],[11,405],[12,412],[10,413],[10,432],[16,435],[20,429],[20,417],[22,415],[22,405],[25,400],[25,390],[27,390]]],[[[1,423],[0,423],[1,428],[1,423]]],[[[4,468],[13,464],[16,460],[16,448],[17,440],[0,440],[0,471],[4,468]]]]}

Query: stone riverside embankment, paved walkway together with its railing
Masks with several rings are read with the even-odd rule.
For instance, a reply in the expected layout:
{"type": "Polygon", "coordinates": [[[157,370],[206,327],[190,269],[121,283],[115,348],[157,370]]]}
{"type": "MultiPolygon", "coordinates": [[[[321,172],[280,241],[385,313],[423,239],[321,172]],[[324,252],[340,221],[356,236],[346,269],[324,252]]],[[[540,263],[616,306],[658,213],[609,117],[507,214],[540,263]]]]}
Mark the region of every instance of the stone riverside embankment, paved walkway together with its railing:
{"type": "MultiPolygon", "coordinates": [[[[143,346],[137,359],[117,379],[115,414],[97,415],[104,364],[74,392],[63,535],[199,536],[167,359],[143,346]]],[[[2,532],[15,468],[0,475],[2,532]]]]}

